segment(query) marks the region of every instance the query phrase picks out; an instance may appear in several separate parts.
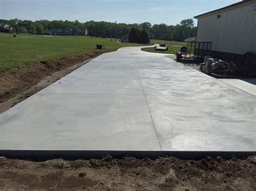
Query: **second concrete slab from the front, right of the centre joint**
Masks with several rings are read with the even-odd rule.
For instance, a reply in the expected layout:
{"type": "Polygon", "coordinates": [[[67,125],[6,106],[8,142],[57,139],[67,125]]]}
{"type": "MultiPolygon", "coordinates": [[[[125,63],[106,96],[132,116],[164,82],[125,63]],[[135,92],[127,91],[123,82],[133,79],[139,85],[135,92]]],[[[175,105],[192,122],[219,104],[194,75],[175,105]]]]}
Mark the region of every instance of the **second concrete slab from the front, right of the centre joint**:
{"type": "Polygon", "coordinates": [[[227,83],[205,76],[153,77],[143,78],[141,82],[146,95],[250,96],[243,90],[232,88],[227,83]]]}

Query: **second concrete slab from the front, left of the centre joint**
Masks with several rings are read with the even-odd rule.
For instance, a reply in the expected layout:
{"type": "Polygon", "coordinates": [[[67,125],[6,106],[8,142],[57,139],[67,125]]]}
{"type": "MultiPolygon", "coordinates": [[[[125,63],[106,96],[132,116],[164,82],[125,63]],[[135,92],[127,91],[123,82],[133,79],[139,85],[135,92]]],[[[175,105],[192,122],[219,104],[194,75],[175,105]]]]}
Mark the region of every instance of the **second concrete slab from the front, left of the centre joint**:
{"type": "Polygon", "coordinates": [[[67,76],[38,94],[143,95],[143,90],[138,78],[75,78],[67,76]]]}

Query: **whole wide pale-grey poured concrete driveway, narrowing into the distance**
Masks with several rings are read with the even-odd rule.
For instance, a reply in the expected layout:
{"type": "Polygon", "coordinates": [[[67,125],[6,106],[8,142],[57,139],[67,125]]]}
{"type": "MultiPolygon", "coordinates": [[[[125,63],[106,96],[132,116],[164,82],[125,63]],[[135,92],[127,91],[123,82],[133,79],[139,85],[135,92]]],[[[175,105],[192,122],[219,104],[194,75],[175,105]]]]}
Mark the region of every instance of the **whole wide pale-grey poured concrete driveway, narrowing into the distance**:
{"type": "Polygon", "coordinates": [[[255,95],[162,54],[98,56],[0,115],[0,150],[255,151],[255,95]]]}

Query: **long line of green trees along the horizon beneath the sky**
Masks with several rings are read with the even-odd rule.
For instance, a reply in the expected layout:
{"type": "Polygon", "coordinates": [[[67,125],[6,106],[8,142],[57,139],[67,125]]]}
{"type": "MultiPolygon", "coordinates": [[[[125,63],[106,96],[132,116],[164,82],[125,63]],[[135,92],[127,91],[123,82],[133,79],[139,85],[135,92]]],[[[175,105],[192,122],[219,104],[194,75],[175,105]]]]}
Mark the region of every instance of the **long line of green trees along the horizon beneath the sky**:
{"type": "Polygon", "coordinates": [[[18,33],[41,34],[44,30],[62,29],[65,26],[86,26],[89,36],[112,38],[117,33],[117,37],[125,37],[134,27],[139,31],[150,31],[156,39],[183,41],[186,38],[194,37],[197,33],[197,27],[194,26],[193,19],[181,20],[177,25],[166,25],[164,23],[151,25],[149,22],[144,23],[111,23],[111,22],[95,22],[93,20],[81,23],[78,20],[21,20],[21,19],[0,19],[0,23],[8,23],[15,27],[18,33]]]}

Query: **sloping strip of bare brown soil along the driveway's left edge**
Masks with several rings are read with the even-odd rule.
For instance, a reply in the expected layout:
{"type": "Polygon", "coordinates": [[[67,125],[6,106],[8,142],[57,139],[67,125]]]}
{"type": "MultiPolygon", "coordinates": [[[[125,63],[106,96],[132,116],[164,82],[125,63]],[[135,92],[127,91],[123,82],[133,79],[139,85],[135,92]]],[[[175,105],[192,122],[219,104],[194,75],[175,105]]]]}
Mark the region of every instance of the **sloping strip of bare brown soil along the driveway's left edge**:
{"type": "Polygon", "coordinates": [[[0,72],[0,114],[102,53],[40,61],[0,72]]]}

